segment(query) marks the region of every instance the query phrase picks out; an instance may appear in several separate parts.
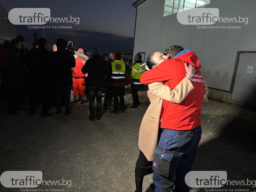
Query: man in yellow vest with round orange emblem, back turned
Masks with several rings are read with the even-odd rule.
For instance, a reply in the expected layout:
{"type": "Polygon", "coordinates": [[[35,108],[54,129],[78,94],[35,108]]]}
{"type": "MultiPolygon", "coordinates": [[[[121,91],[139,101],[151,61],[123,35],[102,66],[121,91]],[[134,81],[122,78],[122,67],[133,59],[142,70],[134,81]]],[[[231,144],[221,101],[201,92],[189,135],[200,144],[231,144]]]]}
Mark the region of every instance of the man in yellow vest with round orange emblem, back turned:
{"type": "Polygon", "coordinates": [[[121,113],[124,113],[124,89],[125,89],[125,78],[127,79],[128,89],[131,88],[132,79],[131,75],[128,75],[125,69],[125,63],[121,60],[121,53],[117,52],[115,60],[111,63],[112,75],[111,83],[113,83],[113,96],[114,96],[114,109],[110,110],[110,113],[119,114],[118,106],[120,105],[121,113]]]}

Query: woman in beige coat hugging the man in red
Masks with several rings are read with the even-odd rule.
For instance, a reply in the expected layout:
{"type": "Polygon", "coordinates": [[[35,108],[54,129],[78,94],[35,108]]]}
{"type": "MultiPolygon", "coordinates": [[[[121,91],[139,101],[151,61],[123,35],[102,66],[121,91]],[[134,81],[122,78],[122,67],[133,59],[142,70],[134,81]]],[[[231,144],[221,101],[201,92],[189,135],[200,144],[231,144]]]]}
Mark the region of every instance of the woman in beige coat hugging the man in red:
{"type": "MultiPolygon", "coordinates": [[[[168,59],[168,57],[161,52],[154,52],[153,56],[155,57],[153,58],[152,55],[153,53],[147,60],[148,68],[154,68],[162,61],[168,59]]],[[[155,82],[148,85],[149,92],[154,94],[154,96],[150,99],[151,103],[148,106],[140,125],[138,142],[140,155],[135,167],[135,192],[142,191],[143,177],[152,173],[152,160],[158,142],[159,121],[163,99],[174,103],[181,103],[189,92],[194,89],[190,79],[193,77],[196,70],[192,65],[187,67],[186,63],[184,64],[184,67],[186,68],[187,76],[175,87],[175,89],[172,90],[162,82],[155,82]]]]}

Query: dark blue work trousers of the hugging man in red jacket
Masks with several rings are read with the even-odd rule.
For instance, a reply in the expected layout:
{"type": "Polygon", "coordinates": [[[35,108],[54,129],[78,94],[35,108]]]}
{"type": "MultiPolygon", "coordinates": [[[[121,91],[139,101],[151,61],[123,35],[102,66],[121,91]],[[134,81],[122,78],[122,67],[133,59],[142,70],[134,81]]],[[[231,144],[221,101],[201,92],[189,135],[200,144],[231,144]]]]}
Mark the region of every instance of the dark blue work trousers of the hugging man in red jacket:
{"type": "Polygon", "coordinates": [[[189,192],[185,175],[191,171],[202,128],[163,129],[153,159],[155,192],[189,192]]]}

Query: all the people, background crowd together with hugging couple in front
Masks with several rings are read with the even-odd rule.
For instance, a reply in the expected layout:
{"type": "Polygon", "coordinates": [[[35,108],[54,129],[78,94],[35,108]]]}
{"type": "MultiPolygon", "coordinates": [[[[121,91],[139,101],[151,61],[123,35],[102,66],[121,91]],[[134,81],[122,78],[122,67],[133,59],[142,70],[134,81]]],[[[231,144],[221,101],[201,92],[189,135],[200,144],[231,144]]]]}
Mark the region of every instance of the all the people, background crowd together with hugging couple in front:
{"type": "Polygon", "coordinates": [[[51,53],[45,48],[46,40],[38,38],[36,46],[26,53],[24,41],[23,36],[17,36],[0,47],[4,50],[4,54],[0,52],[1,96],[8,95],[7,113],[16,114],[21,108],[21,98],[17,99],[16,95],[24,89],[26,77],[31,91],[29,115],[35,114],[39,96],[42,117],[52,115],[49,113],[51,100],[58,114],[62,104],[64,114],[71,114],[69,103],[73,87],[74,103],[81,100],[84,104],[89,100],[91,121],[101,118],[103,92],[103,109],[119,114],[126,110],[125,86],[132,87],[133,103],[129,108],[137,109],[140,106],[138,90],[147,84],[151,103],[140,125],[136,192],[142,191],[143,177],[152,172],[155,191],[189,191],[185,176],[191,170],[201,139],[201,104],[207,101],[209,94],[200,72],[201,64],[193,51],[172,45],[164,53],[150,54],[146,65],[141,55],[136,54],[129,73],[119,52],[111,52],[104,60],[100,49],[95,47],[88,58],[82,48],[67,51],[67,41],[57,39],[51,53]],[[89,95],[85,95],[86,89],[89,95]]]}

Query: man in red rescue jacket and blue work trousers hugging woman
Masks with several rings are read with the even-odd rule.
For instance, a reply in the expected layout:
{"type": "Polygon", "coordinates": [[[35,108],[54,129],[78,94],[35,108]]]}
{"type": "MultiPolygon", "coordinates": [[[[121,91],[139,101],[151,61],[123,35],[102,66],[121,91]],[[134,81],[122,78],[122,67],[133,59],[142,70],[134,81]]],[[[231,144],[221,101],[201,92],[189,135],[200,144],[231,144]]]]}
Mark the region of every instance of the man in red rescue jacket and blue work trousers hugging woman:
{"type": "Polygon", "coordinates": [[[155,191],[189,191],[185,175],[191,171],[196,147],[201,139],[201,104],[204,86],[199,68],[200,62],[193,51],[173,45],[167,50],[172,59],[146,71],[140,82],[150,84],[164,81],[172,89],[186,76],[184,63],[195,66],[196,73],[191,81],[195,87],[180,103],[163,101],[161,128],[163,132],[153,160],[155,191]]]}

